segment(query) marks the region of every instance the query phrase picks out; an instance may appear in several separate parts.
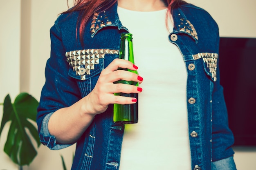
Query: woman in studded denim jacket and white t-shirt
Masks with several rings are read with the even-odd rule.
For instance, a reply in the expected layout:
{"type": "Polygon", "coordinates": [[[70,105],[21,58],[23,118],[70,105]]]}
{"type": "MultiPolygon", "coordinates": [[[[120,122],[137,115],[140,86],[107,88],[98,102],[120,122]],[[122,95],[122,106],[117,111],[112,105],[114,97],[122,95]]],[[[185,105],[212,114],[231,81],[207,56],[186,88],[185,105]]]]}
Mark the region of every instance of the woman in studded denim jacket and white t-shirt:
{"type": "Polygon", "coordinates": [[[181,0],[77,0],[51,41],[38,132],[53,150],[76,143],[72,170],[236,169],[218,26],[206,11],[181,0]],[[128,32],[136,65],[117,59],[128,32]],[[136,99],[120,92],[140,93],[139,123],[126,130],[113,123],[112,104],[136,99]]]}

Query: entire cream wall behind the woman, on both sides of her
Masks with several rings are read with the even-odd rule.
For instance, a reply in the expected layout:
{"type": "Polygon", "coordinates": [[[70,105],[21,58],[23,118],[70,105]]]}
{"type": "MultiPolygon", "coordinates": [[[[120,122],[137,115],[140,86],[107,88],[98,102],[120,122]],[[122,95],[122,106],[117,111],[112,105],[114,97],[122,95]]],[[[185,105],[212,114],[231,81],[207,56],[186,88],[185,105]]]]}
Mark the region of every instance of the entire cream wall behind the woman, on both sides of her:
{"type": "MultiPolygon", "coordinates": [[[[71,1],[71,0],[70,0],[71,1]]],[[[256,38],[255,0],[188,0],[206,9],[216,20],[220,36],[256,38]]],[[[50,54],[49,29],[58,13],[67,9],[66,0],[12,0],[0,6],[0,103],[7,93],[12,99],[21,91],[39,100],[45,82],[44,69],[50,54]],[[20,60],[21,58],[21,60],[20,60]],[[20,70],[21,68],[21,70],[20,70]]],[[[0,117],[2,107],[0,106],[0,117]]],[[[17,170],[2,151],[7,128],[0,139],[0,170],[17,170]]],[[[235,148],[238,170],[255,170],[256,149],[235,148]]],[[[60,154],[71,167],[74,146],[52,151],[45,146],[25,170],[61,170],[60,154]]]]}

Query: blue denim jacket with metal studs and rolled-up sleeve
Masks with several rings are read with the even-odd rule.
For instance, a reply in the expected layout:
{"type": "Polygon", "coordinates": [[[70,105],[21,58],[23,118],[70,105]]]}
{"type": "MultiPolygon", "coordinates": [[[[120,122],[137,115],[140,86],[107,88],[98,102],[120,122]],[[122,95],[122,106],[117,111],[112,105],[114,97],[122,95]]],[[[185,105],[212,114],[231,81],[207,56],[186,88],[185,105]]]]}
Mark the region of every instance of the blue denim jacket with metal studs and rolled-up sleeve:
{"type": "MultiPolygon", "coordinates": [[[[85,26],[81,44],[76,39],[78,13],[60,15],[50,30],[52,50],[45,69],[46,82],[37,123],[40,141],[53,150],[69,145],[58,144],[49,134],[49,117],[92,91],[101,71],[119,57],[121,33],[128,32],[119,21],[115,4],[106,11],[94,13],[92,22],[85,26]]],[[[191,4],[175,8],[173,21],[169,40],[179,47],[188,75],[191,169],[211,170],[211,161],[234,154],[231,148],[234,138],[228,127],[218,70],[218,25],[209,13],[191,4]]],[[[124,126],[114,124],[112,108],[110,105],[106,113],[95,116],[76,142],[72,170],[119,168],[124,126]]]]}

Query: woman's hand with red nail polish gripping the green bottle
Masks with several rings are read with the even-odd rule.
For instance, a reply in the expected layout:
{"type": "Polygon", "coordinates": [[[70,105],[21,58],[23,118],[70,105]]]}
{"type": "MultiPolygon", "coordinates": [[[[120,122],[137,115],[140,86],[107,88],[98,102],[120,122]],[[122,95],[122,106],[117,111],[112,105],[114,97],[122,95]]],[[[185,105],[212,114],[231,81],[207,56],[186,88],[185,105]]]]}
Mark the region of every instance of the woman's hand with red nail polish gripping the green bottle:
{"type": "Polygon", "coordinates": [[[142,91],[140,87],[121,83],[114,84],[114,82],[122,79],[140,84],[143,78],[129,71],[118,70],[118,68],[137,70],[138,67],[127,60],[115,59],[101,72],[97,84],[86,97],[88,104],[86,106],[90,107],[92,114],[103,113],[109,104],[132,104],[136,102],[134,98],[118,96],[114,93],[140,93],[142,91]]]}

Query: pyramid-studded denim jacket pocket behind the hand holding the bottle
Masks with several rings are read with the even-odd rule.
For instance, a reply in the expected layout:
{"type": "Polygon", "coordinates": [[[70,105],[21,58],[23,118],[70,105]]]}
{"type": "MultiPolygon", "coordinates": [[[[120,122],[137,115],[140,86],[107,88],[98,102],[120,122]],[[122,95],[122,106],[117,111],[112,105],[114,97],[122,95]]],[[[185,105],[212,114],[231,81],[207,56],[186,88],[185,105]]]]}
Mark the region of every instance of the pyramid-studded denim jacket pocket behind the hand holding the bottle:
{"type": "Polygon", "coordinates": [[[84,49],[66,52],[70,65],[68,75],[78,82],[82,97],[88,95],[97,83],[101,71],[118,57],[118,50],[84,49]]]}

